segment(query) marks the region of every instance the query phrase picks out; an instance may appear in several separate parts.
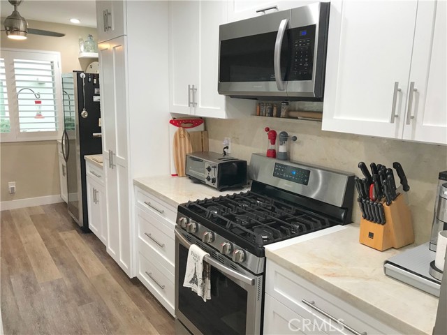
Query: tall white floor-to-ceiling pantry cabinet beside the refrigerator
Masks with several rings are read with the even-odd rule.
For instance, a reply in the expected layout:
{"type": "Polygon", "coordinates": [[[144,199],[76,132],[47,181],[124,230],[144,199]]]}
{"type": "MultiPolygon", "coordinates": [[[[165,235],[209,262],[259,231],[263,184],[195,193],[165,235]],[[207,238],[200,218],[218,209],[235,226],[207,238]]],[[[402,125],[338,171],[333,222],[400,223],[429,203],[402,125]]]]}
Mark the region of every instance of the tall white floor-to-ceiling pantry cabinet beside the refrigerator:
{"type": "Polygon", "coordinates": [[[133,277],[133,178],[169,172],[168,2],[96,1],[96,15],[110,38],[98,41],[107,251],[133,277]]]}

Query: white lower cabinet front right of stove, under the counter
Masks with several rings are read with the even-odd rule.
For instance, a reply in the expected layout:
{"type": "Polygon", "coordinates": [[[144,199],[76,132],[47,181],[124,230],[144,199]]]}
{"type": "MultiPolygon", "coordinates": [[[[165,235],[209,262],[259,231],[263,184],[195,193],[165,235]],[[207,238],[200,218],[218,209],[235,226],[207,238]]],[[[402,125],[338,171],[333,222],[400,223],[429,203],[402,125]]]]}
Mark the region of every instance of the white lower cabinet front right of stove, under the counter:
{"type": "Polygon", "coordinates": [[[266,269],[264,334],[399,334],[270,260],[266,269]]]}

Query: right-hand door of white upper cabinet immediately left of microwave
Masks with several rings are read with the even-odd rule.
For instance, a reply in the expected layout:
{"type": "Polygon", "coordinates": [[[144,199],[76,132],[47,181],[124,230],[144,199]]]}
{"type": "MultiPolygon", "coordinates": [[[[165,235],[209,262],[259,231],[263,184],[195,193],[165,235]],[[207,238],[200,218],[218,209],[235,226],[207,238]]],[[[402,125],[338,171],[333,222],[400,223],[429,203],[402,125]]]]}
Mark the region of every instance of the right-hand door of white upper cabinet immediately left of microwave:
{"type": "Polygon", "coordinates": [[[193,114],[198,117],[226,117],[226,97],[217,93],[219,72],[219,24],[226,22],[226,2],[195,1],[198,5],[198,81],[193,114]]]}

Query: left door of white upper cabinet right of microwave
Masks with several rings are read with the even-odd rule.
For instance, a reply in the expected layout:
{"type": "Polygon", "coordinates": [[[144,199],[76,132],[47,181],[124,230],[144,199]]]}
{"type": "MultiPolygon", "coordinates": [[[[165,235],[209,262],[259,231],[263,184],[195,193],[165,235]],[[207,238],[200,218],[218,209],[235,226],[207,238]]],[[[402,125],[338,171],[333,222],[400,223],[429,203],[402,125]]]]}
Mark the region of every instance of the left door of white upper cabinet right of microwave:
{"type": "Polygon", "coordinates": [[[331,2],[323,130],[402,137],[417,7],[331,2]]]}

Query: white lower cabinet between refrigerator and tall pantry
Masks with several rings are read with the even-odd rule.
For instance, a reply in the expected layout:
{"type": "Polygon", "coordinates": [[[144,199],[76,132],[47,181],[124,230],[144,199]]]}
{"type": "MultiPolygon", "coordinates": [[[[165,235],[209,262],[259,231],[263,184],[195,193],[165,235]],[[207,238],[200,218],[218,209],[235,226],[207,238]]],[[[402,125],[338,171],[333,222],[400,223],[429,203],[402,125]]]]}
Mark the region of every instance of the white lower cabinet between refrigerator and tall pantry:
{"type": "Polygon", "coordinates": [[[87,210],[89,228],[103,244],[107,244],[107,217],[103,170],[86,161],[87,210]]]}

